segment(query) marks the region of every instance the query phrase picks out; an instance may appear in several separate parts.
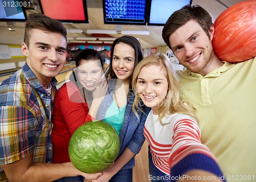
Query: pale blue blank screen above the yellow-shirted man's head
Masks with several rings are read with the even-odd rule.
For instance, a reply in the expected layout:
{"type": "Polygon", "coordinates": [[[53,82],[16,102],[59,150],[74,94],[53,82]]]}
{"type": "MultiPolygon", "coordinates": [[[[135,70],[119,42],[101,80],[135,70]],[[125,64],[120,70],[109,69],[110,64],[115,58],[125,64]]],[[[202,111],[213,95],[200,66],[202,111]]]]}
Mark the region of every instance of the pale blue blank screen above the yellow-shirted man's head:
{"type": "Polygon", "coordinates": [[[173,12],[191,3],[192,0],[149,0],[147,25],[164,26],[173,12]]]}

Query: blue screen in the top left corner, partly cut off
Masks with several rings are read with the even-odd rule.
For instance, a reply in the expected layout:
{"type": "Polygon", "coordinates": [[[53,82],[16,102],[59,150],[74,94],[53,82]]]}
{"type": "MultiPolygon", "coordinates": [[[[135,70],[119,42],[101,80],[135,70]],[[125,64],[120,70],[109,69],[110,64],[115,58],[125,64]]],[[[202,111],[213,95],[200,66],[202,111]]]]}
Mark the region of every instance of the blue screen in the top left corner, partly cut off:
{"type": "Polygon", "coordinates": [[[18,0],[0,0],[0,21],[25,21],[24,4],[18,0]]]}

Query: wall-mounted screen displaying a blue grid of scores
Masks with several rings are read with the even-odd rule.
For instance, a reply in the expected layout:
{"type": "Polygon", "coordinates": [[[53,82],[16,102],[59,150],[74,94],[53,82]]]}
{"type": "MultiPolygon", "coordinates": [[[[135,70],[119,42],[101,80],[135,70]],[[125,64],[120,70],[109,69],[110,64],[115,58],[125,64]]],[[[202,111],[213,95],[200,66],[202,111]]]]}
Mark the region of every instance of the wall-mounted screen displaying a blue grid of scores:
{"type": "Polygon", "coordinates": [[[103,0],[104,24],[146,25],[147,0],[103,0]]]}

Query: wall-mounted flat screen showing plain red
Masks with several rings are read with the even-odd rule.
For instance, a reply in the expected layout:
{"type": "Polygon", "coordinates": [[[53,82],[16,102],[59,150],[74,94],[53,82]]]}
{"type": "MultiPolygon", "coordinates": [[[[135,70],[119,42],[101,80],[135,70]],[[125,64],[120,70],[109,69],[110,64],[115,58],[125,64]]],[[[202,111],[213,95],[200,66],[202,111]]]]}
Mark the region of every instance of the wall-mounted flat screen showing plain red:
{"type": "Polygon", "coordinates": [[[86,0],[38,0],[42,14],[61,22],[89,23],[86,0]]]}

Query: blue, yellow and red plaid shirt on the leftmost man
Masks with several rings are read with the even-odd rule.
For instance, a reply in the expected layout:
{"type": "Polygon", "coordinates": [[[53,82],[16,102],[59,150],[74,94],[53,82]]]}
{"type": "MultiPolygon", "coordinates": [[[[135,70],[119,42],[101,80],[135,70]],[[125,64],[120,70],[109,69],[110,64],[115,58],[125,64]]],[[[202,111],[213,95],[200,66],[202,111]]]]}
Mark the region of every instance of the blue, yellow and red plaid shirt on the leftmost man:
{"type": "MultiPolygon", "coordinates": [[[[51,109],[57,80],[51,80],[52,94],[25,64],[0,85],[0,165],[20,160],[30,153],[33,162],[52,162],[51,109]]],[[[0,181],[6,175],[0,168],[0,181]]]]}

